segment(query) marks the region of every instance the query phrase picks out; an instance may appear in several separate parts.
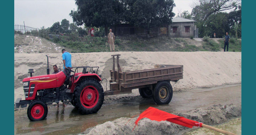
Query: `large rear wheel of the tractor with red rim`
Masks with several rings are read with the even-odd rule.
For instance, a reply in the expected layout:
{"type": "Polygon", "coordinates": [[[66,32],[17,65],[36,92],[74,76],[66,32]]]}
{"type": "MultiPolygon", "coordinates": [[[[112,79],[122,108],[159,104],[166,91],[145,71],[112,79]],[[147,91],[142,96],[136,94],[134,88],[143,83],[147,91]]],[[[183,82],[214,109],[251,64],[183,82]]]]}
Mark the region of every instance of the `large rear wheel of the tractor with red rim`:
{"type": "Polygon", "coordinates": [[[83,79],[75,87],[73,100],[80,114],[96,113],[104,101],[103,88],[94,78],[83,79]]]}

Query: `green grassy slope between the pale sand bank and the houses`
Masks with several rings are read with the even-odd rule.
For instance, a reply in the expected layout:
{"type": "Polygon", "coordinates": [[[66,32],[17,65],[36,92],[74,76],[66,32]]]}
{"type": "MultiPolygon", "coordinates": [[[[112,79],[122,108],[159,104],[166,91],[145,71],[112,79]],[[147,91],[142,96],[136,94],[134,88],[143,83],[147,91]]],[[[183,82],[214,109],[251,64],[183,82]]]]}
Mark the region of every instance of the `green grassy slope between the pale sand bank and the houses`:
{"type": "MultiPolygon", "coordinates": [[[[189,39],[191,40],[191,39],[189,39]]],[[[118,36],[115,39],[115,51],[148,51],[148,52],[195,52],[195,51],[220,51],[223,50],[223,39],[215,42],[208,36],[203,38],[202,46],[191,45],[189,40],[183,38],[161,38],[150,40],[121,40],[118,36]]],[[[72,53],[86,53],[86,52],[110,52],[109,45],[106,45],[107,37],[91,37],[86,36],[83,41],[65,40],[65,38],[53,39],[55,43],[69,48],[72,53]]],[[[241,40],[230,39],[230,52],[241,52],[241,40]]]]}

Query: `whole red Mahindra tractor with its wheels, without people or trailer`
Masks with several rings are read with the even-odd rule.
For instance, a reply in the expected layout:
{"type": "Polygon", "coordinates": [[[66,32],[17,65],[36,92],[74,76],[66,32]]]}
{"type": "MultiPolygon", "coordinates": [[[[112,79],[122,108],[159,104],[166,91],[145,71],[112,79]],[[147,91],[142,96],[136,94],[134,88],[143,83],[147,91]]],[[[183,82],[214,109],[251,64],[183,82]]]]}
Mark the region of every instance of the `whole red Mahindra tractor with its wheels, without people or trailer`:
{"type": "Polygon", "coordinates": [[[46,118],[47,105],[53,102],[59,103],[61,100],[64,103],[71,102],[82,115],[100,110],[104,92],[100,83],[101,75],[97,74],[98,66],[73,67],[75,71],[67,68],[68,72],[49,74],[48,56],[47,65],[47,75],[32,77],[33,69],[29,69],[30,77],[22,80],[25,100],[18,98],[15,102],[16,108],[26,107],[29,104],[27,116],[31,121],[46,118]],[[93,69],[97,70],[96,73],[93,69]],[[70,72],[74,74],[70,75],[70,72]]]}

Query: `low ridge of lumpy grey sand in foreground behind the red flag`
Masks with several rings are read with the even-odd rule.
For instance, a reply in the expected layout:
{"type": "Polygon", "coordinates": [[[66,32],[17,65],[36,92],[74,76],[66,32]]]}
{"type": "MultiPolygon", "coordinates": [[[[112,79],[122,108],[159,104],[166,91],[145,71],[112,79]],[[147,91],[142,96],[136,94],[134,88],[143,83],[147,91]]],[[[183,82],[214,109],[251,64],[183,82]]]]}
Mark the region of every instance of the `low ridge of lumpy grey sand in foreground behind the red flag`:
{"type": "MultiPolygon", "coordinates": [[[[241,116],[240,105],[214,105],[208,108],[198,108],[196,110],[175,114],[207,125],[214,125],[227,122],[229,119],[241,116]]],[[[174,135],[188,129],[181,125],[167,121],[151,121],[143,118],[139,121],[138,127],[134,128],[136,118],[118,118],[112,122],[105,122],[95,127],[89,128],[80,135],[174,135]],[[130,121],[129,121],[130,120],[130,121]],[[132,131],[133,130],[133,131],[132,131]]]]}

